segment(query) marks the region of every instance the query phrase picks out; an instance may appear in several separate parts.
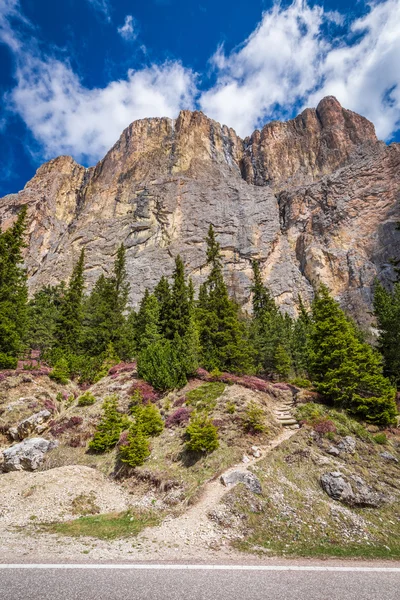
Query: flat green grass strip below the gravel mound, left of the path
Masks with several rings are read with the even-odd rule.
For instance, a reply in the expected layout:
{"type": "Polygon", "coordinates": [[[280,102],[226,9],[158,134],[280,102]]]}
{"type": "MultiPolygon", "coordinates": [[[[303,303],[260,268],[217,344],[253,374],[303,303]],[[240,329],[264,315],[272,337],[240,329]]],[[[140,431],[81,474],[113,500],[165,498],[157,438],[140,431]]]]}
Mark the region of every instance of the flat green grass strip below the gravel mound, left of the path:
{"type": "Polygon", "coordinates": [[[145,527],[154,527],[161,515],[153,513],[109,513],[80,517],[72,521],[42,523],[38,529],[69,537],[94,537],[99,540],[116,540],[138,535],[145,527]]]}

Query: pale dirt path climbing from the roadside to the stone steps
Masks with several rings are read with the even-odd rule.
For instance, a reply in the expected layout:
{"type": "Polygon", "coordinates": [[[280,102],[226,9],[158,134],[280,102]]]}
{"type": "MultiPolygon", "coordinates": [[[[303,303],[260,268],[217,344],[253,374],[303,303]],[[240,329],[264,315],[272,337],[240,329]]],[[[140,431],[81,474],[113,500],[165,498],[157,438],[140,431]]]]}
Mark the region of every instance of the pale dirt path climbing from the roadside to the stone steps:
{"type": "MultiPolygon", "coordinates": [[[[265,458],[274,448],[288,440],[297,433],[296,430],[284,429],[278,437],[271,440],[267,445],[260,447],[261,456],[259,458],[250,458],[246,464],[239,463],[224,471],[227,475],[232,471],[246,472],[248,467],[256,464],[265,458]]],[[[219,546],[224,541],[221,539],[221,531],[216,524],[209,519],[209,513],[216,509],[223,496],[231,487],[225,487],[218,477],[206,483],[200,500],[190,507],[179,517],[167,517],[161,525],[151,530],[145,530],[140,536],[139,541],[145,542],[151,540],[159,548],[175,548],[177,553],[184,550],[184,553],[191,553],[196,547],[219,546]]]]}

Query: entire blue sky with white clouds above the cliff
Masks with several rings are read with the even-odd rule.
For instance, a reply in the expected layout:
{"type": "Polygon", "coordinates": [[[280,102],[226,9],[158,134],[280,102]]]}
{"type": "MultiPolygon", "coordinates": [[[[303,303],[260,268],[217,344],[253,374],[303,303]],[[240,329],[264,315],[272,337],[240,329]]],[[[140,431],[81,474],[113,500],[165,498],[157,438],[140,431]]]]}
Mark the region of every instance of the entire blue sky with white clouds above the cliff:
{"type": "Polygon", "coordinates": [[[400,140],[400,0],[0,0],[0,196],[137,118],[241,136],[334,94],[400,140]]]}

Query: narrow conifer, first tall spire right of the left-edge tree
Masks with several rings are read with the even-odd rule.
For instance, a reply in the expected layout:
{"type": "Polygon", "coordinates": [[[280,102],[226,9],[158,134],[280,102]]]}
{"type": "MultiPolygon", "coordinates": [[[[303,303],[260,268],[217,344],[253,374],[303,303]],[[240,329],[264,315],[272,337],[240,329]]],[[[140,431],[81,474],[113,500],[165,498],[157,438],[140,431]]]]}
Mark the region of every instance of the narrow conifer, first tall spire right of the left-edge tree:
{"type": "Polygon", "coordinates": [[[58,345],[65,352],[76,353],[79,348],[83,321],[84,265],[83,249],[72,271],[56,327],[58,345]]]}

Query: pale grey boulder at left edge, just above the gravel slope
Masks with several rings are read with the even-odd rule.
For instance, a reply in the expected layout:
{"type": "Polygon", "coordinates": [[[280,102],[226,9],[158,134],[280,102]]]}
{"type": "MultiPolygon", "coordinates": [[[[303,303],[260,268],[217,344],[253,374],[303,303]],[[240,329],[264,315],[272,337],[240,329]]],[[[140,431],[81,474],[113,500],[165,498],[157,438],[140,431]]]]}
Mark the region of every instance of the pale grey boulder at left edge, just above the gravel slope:
{"type": "Polygon", "coordinates": [[[43,462],[47,452],[58,446],[44,438],[32,438],[3,450],[2,469],[9,471],[35,471],[43,462]]]}

